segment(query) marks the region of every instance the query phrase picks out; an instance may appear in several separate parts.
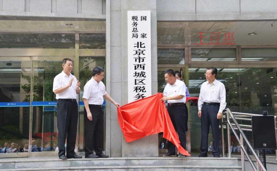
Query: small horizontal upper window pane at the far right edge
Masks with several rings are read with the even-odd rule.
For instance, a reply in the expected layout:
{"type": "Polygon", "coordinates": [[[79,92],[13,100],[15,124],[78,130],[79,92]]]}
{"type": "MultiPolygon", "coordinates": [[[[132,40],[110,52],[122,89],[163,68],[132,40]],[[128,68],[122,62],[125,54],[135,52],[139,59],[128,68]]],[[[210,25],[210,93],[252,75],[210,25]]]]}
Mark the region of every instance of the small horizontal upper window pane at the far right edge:
{"type": "Polygon", "coordinates": [[[277,61],[277,48],[242,48],[242,61],[277,61]]]}

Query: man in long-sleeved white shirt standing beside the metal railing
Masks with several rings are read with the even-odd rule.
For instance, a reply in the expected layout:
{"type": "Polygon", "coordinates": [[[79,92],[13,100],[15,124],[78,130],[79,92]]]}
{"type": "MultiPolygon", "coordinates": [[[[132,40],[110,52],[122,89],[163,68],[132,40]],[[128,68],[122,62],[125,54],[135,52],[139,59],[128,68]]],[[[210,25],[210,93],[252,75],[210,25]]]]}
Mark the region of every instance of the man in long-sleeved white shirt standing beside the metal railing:
{"type": "Polygon", "coordinates": [[[212,127],[212,155],[220,157],[219,152],[219,120],[226,107],[226,91],[223,83],[216,80],[217,69],[206,70],[206,82],[202,83],[198,99],[198,116],[201,118],[201,145],[198,157],[207,157],[208,135],[212,127]]]}

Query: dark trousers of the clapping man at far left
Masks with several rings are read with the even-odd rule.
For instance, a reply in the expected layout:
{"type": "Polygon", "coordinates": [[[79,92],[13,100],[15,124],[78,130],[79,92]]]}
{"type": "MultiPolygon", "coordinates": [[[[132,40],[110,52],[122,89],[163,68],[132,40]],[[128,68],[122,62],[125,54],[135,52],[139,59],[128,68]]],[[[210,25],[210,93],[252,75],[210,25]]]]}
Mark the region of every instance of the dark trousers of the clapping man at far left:
{"type": "Polygon", "coordinates": [[[78,121],[78,104],[75,101],[57,102],[57,126],[58,126],[58,147],[59,156],[65,155],[65,139],[67,139],[66,155],[75,154],[75,143],[78,121]]]}

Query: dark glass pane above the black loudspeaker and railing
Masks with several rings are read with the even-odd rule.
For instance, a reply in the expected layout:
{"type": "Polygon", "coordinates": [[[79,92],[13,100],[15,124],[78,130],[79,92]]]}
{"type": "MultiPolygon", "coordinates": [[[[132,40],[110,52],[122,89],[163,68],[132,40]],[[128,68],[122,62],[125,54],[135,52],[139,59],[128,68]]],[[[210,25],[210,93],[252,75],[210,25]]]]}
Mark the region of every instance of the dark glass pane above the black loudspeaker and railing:
{"type": "Polygon", "coordinates": [[[277,115],[276,68],[240,69],[241,112],[277,115]]]}

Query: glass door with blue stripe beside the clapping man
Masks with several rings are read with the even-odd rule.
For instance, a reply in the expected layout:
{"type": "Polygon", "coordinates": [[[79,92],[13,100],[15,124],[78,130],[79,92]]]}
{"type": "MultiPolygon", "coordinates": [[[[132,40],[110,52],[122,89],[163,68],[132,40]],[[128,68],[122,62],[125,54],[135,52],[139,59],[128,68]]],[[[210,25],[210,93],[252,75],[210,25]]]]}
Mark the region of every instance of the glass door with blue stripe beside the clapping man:
{"type": "Polygon", "coordinates": [[[55,156],[58,153],[57,100],[52,89],[55,76],[63,70],[64,58],[33,58],[30,156],[55,156]]]}

